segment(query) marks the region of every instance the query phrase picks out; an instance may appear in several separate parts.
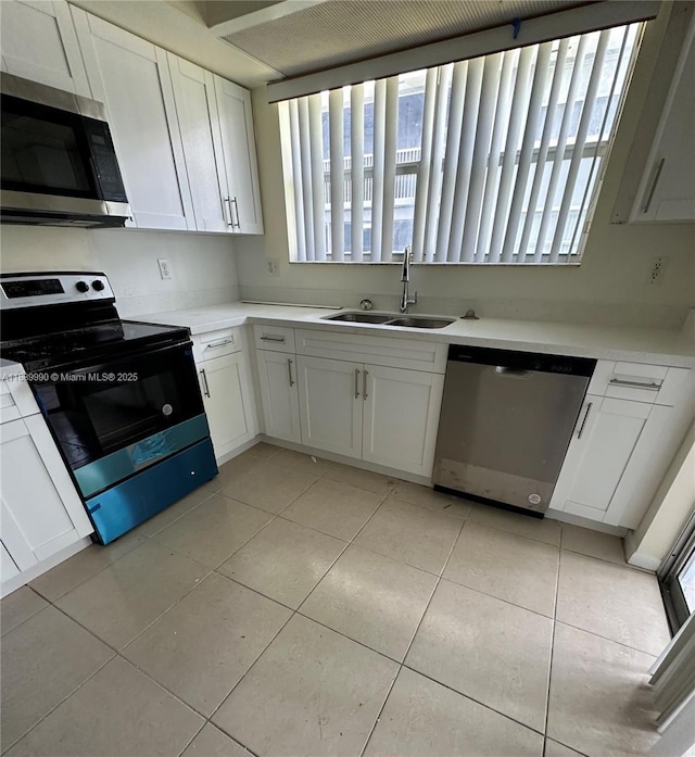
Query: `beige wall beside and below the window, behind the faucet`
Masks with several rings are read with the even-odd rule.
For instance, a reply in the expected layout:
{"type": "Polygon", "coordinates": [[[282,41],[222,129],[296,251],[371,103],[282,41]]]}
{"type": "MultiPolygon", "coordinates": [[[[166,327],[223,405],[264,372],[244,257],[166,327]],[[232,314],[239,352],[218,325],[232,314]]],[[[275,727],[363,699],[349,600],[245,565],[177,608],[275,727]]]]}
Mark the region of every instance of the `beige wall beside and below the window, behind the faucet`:
{"type": "MultiPolygon", "coordinates": [[[[475,306],[482,315],[501,317],[666,328],[682,323],[695,306],[695,226],[609,224],[664,23],[660,16],[645,38],[582,265],[415,266],[416,311],[463,313],[475,306]],[[669,262],[662,280],[650,285],[655,255],[667,255],[669,262]]],[[[278,109],[266,103],[263,88],[254,90],[253,103],[266,234],[236,244],[242,295],[353,306],[370,297],[376,306],[394,308],[400,283],[393,265],[288,263],[278,109]],[[266,258],[279,261],[279,276],[269,275],[266,258]]]]}

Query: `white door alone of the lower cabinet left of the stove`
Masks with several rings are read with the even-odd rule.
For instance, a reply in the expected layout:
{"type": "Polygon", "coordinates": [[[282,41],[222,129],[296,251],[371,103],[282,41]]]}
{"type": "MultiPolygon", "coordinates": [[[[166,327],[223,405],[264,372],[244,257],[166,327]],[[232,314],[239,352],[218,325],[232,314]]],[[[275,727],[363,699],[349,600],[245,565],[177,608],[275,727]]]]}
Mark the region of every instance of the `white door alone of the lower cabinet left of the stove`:
{"type": "MultiPolygon", "coordinates": [[[[79,535],[24,420],[3,424],[1,450],[0,535],[20,570],[25,570],[79,535]]],[[[84,509],[83,516],[87,520],[84,509]]]]}

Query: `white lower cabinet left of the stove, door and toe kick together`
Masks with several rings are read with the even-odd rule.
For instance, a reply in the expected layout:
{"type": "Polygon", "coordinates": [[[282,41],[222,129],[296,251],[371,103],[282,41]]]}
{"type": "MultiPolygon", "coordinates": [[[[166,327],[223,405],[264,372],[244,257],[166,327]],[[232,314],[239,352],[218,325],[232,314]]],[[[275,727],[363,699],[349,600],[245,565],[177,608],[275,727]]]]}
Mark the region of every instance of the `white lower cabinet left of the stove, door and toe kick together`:
{"type": "Polygon", "coordinates": [[[0,464],[5,583],[93,529],[41,415],[2,425],[0,464]]]}

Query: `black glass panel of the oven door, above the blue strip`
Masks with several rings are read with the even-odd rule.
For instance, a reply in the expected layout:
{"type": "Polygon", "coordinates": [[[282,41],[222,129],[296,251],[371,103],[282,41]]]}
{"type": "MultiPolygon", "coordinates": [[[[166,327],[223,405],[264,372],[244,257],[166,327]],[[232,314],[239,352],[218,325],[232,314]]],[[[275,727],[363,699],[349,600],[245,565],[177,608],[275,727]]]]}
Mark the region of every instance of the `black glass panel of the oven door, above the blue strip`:
{"type": "Polygon", "coordinates": [[[203,413],[190,346],[62,371],[34,389],[73,469],[203,413]]]}

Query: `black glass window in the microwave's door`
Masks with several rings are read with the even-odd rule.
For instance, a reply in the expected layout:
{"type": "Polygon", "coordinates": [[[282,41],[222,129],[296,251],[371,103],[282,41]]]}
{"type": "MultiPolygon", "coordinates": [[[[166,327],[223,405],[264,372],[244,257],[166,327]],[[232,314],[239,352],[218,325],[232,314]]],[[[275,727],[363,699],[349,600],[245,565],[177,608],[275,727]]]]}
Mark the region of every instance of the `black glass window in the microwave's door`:
{"type": "Polygon", "coordinates": [[[2,188],[96,197],[80,116],[2,98],[2,188]]]}

